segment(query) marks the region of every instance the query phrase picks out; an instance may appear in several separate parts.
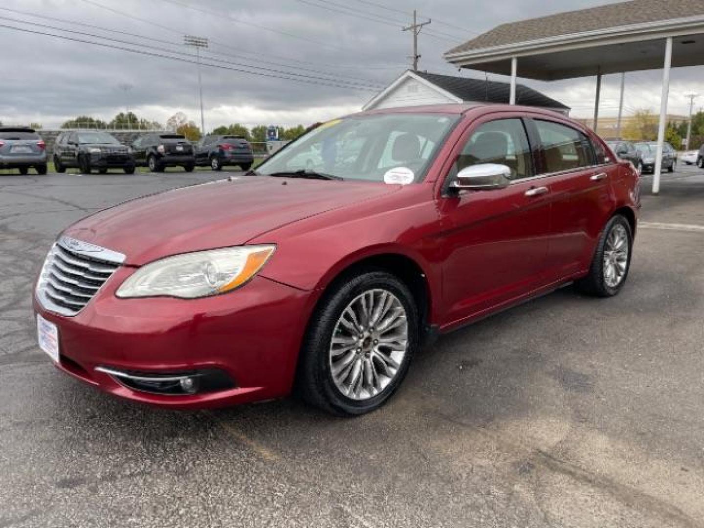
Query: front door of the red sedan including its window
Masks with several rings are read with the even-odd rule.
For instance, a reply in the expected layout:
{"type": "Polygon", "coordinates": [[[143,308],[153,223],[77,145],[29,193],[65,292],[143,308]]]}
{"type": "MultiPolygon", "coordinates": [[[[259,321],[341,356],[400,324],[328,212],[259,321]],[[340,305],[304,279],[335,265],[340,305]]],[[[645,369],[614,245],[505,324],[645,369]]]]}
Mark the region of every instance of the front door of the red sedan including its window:
{"type": "Polygon", "coordinates": [[[535,175],[520,117],[489,116],[473,124],[454,156],[439,202],[448,325],[540,287],[550,232],[549,188],[535,175]],[[459,170],[479,163],[507,165],[513,181],[492,191],[448,189],[459,170]]]}

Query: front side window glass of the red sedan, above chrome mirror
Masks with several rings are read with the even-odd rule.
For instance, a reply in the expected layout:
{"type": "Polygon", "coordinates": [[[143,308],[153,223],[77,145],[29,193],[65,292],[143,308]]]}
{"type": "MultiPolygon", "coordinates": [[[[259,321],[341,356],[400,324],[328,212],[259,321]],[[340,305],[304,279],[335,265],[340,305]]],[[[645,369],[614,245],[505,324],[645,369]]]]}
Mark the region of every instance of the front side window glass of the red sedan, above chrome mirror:
{"type": "Polygon", "coordinates": [[[533,176],[531,150],[523,122],[511,118],[480,125],[455,161],[452,174],[479,163],[506,165],[511,170],[511,180],[533,176]]]}

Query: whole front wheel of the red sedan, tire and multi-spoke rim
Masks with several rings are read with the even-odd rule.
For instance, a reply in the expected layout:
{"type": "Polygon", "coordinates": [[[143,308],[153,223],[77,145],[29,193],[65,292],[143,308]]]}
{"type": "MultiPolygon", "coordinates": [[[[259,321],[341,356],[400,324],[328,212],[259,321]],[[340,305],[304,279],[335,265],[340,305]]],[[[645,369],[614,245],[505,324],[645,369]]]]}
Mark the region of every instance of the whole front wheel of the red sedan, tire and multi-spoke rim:
{"type": "Polygon", "coordinates": [[[401,383],[417,342],[417,308],[406,284],[383,271],[352,277],[333,287],[313,315],[298,391],[332,413],[367,413],[401,383]]]}

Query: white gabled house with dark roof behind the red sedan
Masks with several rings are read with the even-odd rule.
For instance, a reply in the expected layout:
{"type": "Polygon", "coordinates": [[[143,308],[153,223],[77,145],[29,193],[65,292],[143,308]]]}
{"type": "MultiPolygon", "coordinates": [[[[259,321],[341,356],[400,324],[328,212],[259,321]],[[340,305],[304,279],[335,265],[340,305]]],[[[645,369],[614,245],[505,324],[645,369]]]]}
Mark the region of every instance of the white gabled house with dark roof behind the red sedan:
{"type": "MultiPolygon", "coordinates": [[[[408,70],[362,109],[441,103],[508,103],[509,92],[508,82],[408,70]]],[[[570,113],[568,106],[522,84],[516,87],[516,104],[546,108],[565,115],[570,113]]]]}

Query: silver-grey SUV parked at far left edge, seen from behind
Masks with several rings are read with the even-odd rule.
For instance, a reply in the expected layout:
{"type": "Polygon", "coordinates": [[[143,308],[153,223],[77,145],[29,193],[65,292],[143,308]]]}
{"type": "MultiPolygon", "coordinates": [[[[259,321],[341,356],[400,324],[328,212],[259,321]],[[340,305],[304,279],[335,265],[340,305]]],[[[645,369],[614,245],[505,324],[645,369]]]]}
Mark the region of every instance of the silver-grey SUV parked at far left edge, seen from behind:
{"type": "Polygon", "coordinates": [[[0,127],[0,168],[46,174],[46,144],[30,127],[0,127]]]}

